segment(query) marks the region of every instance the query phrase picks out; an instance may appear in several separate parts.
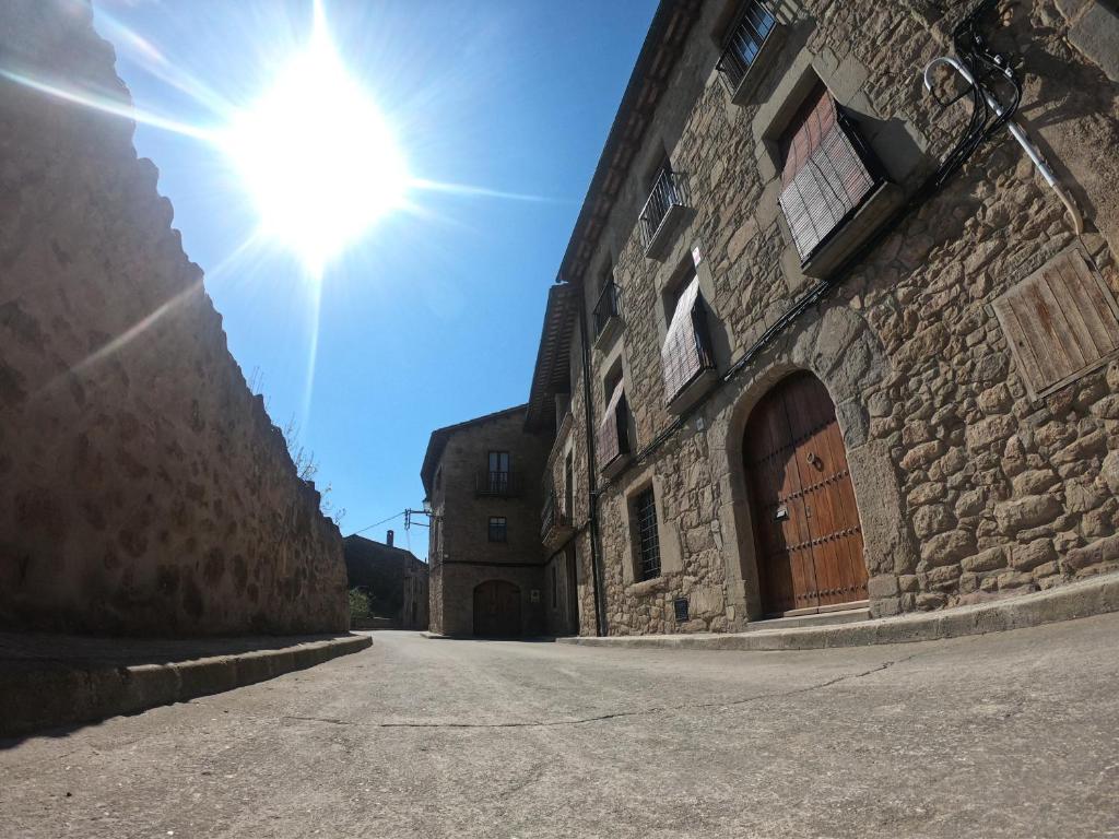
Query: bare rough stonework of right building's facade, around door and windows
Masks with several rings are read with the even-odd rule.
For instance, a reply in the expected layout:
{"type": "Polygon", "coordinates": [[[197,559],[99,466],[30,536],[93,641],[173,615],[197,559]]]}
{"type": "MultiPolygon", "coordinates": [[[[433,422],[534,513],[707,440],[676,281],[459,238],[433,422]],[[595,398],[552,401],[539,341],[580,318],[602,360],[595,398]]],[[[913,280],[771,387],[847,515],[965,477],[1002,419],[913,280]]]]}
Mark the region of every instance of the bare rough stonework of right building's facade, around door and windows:
{"type": "MultiPolygon", "coordinates": [[[[920,88],[924,63],[950,48],[943,31],[909,3],[789,6],[796,16],[790,44],[745,107],[732,104],[711,73],[714,3],[705,7],[646,138],[648,155],[662,143],[674,169],[686,175],[693,214],[671,255],[662,264],[649,261],[634,227],[643,196],[631,185],[633,195],[615,206],[600,243],[612,253],[622,289],[620,340],[638,446],[671,421],[664,408],[657,289],[694,245],[713,277],[713,326],[731,357],[807,287],[789,271],[775,204],[780,182],[762,170],[753,133],[798,54],[811,56],[840,101],[863,114],[903,186],[912,188],[931,170],[958,128],[951,119],[933,121],[920,88]]],[[[752,535],[742,513],[741,434],[750,406],[798,368],[812,370],[837,404],[875,614],[1006,596],[1119,565],[1119,365],[1032,403],[989,305],[1074,244],[1119,292],[1119,163],[1103,151],[1119,143],[1117,86],[1070,46],[1055,3],[1004,3],[1000,11],[997,43],[1022,60],[1022,119],[1072,186],[1088,233],[1076,239],[1055,196],[1008,138],[985,147],[840,293],[705,406],[705,431],[689,423],[606,488],[611,633],[733,629],[759,614],[752,535]],[[679,545],[683,563],[658,581],[628,584],[626,496],[642,472],[659,480],[661,541],[679,545]],[[685,624],[673,619],[675,596],[692,598],[685,624]]],[[[630,180],[638,179],[631,173],[630,180]]],[[[594,355],[596,417],[605,358],[594,355]]]]}

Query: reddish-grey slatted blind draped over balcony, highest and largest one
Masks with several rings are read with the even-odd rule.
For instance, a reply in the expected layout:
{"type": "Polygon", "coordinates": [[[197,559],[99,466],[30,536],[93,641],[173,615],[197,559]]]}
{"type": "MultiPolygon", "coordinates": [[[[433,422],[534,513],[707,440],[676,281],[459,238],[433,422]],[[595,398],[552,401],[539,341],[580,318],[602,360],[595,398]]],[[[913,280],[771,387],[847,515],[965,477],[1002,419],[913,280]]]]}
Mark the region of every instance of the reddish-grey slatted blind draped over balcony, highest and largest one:
{"type": "Polygon", "coordinates": [[[824,85],[786,130],[781,153],[781,209],[797,252],[807,261],[882,179],[868,167],[862,140],[824,85]]]}

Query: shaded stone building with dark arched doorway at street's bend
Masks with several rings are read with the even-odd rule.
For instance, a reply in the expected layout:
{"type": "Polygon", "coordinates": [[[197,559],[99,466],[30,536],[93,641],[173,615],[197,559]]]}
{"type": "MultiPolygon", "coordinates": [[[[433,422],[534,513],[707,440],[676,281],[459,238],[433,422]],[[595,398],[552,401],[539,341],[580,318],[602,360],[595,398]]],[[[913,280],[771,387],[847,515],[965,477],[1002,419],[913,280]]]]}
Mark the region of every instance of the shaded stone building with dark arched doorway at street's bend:
{"type": "Polygon", "coordinates": [[[573,632],[568,577],[540,546],[547,443],[526,406],[431,435],[421,477],[431,505],[431,630],[515,637],[573,632]]]}

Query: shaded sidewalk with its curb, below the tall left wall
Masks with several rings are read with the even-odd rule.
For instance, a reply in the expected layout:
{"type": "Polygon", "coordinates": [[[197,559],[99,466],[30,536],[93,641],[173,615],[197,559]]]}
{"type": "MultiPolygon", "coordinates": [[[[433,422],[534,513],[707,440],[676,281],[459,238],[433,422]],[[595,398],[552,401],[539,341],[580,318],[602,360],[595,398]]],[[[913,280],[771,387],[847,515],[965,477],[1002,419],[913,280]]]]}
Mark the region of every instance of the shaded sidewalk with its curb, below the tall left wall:
{"type": "Polygon", "coordinates": [[[186,640],[0,633],[0,737],[134,714],[363,650],[367,635],[186,640]]]}

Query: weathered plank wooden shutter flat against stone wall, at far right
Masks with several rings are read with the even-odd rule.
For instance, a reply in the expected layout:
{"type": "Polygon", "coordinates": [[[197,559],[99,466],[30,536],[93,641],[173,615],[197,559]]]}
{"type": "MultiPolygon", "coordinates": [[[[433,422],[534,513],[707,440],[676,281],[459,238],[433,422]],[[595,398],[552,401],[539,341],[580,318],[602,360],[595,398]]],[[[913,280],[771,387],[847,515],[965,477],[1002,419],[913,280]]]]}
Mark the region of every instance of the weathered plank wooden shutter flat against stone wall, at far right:
{"type": "Polygon", "coordinates": [[[1119,355],[1119,307],[1079,248],[1050,260],[993,305],[1031,398],[1119,355]]]}

